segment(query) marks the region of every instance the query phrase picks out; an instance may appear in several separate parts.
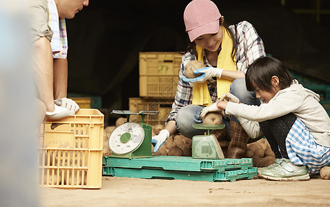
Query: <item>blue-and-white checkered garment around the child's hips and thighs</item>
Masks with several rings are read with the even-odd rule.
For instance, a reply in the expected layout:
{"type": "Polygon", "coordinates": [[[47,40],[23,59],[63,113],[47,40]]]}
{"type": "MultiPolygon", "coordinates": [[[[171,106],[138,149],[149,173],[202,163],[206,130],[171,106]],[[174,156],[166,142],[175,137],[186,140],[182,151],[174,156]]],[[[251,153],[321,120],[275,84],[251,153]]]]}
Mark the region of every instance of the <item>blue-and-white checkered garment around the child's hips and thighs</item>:
{"type": "Polygon", "coordinates": [[[316,144],[311,133],[298,118],[286,139],[287,153],[295,165],[306,165],[309,173],[318,173],[330,161],[330,148],[316,144]]]}

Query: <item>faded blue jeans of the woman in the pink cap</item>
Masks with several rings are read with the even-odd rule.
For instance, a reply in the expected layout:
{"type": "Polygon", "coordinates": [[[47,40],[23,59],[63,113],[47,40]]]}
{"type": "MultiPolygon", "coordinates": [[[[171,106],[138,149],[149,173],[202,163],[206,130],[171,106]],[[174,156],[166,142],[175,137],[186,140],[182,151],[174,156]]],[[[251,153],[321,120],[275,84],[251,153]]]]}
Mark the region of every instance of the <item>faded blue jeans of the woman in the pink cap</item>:
{"type": "MultiPolygon", "coordinates": [[[[255,97],[255,92],[249,92],[246,90],[245,78],[235,79],[233,83],[231,83],[230,87],[231,94],[235,95],[238,99],[240,99],[241,103],[246,103],[248,105],[260,105],[260,100],[255,97]]],[[[177,119],[175,124],[177,126],[177,130],[181,132],[185,137],[192,138],[195,135],[204,135],[206,130],[197,130],[193,128],[193,124],[202,124],[203,119],[200,117],[200,112],[205,106],[197,106],[197,105],[188,105],[180,108],[177,112],[177,119]]],[[[222,119],[224,124],[226,125],[226,139],[230,141],[230,121],[233,120],[236,123],[239,121],[236,117],[231,116],[230,119],[222,119]]]]}

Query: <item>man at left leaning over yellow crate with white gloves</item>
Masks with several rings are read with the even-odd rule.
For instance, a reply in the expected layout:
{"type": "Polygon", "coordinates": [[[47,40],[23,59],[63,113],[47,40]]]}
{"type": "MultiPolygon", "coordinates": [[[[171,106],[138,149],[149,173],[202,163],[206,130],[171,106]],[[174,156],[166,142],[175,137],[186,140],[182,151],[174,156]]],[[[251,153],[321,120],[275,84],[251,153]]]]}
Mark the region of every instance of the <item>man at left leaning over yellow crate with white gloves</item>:
{"type": "Polygon", "coordinates": [[[88,0],[32,0],[31,36],[35,82],[48,119],[74,115],[79,106],[67,99],[68,42],[65,18],[88,6],[88,0]]]}

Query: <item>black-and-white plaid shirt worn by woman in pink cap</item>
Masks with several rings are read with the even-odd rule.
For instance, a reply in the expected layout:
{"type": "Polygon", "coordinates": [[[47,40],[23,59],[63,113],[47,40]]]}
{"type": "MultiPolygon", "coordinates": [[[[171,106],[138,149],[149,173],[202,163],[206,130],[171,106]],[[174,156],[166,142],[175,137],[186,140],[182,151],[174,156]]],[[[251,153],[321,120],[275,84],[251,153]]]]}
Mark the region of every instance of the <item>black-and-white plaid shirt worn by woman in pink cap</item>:
{"type": "MultiPolygon", "coordinates": [[[[237,32],[237,55],[236,55],[236,66],[238,71],[246,72],[246,69],[260,57],[266,56],[264,52],[264,43],[258,36],[255,28],[251,23],[242,21],[235,26],[229,26],[229,29],[235,33],[237,32]]],[[[203,59],[206,66],[210,66],[208,63],[205,52],[203,50],[203,59]]],[[[193,52],[186,52],[182,56],[181,69],[179,71],[179,80],[177,82],[177,93],[175,95],[174,103],[172,104],[172,111],[166,120],[166,124],[170,120],[175,120],[177,117],[177,111],[189,104],[193,100],[193,83],[187,83],[182,81],[182,75],[185,74],[185,66],[188,62],[195,60],[195,54],[193,52]]],[[[213,102],[217,100],[217,81],[213,79],[208,80],[208,91],[210,92],[211,99],[213,102]]]]}

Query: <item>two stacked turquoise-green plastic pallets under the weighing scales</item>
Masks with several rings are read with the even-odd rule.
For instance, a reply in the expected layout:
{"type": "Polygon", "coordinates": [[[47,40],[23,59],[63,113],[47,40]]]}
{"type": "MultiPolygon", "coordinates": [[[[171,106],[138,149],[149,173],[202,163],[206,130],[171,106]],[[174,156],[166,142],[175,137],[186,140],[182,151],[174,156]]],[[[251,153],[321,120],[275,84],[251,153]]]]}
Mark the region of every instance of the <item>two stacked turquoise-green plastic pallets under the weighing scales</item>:
{"type": "Polygon", "coordinates": [[[103,175],[144,179],[185,179],[193,181],[236,181],[253,179],[257,168],[251,158],[193,159],[153,156],[151,158],[103,158],[103,175]]]}

